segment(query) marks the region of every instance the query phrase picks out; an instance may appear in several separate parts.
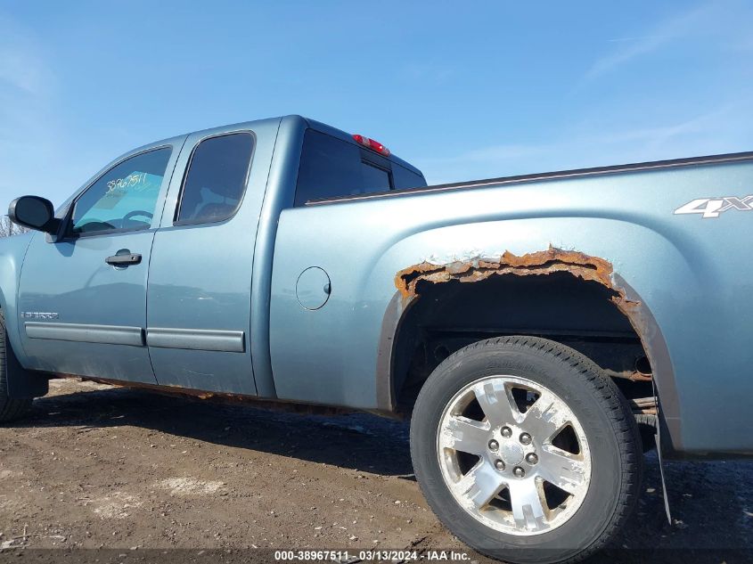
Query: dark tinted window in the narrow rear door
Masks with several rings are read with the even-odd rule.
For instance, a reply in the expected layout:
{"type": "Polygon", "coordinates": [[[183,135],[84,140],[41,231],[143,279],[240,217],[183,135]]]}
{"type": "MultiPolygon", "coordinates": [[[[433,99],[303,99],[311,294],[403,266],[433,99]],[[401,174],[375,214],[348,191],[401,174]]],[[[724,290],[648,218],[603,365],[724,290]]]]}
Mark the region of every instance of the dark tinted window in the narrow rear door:
{"type": "Polygon", "coordinates": [[[233,216],[249,176],[254,137],[248,133],[205,139],[193,150],[176,223],[206,223],[233,216]]]}

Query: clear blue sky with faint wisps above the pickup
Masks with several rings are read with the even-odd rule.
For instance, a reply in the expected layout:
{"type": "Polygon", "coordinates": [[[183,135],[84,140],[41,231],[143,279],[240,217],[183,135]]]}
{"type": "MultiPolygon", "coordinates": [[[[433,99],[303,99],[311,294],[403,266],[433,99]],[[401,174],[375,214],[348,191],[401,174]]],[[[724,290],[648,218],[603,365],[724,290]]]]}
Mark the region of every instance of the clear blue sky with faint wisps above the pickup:
{"type": "Polygon", "coordinates": [[[300,113],[431,184],[753,150],[753,4],[0,0],[0,205],[300,113]],[[536,5],[533,5],[536,4],[536,5]]]}

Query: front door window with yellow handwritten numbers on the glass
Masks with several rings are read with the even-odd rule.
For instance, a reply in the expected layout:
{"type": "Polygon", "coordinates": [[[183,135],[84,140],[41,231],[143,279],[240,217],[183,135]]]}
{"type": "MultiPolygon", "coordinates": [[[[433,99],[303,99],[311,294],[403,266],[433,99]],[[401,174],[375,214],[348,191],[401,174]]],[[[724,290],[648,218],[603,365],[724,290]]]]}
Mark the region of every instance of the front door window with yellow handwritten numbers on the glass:
{"type": "Polygon", "coordinates": [[[148,229],[171,152],[144,152],[110,168],[76,201],[71,232],[148,229]]]}

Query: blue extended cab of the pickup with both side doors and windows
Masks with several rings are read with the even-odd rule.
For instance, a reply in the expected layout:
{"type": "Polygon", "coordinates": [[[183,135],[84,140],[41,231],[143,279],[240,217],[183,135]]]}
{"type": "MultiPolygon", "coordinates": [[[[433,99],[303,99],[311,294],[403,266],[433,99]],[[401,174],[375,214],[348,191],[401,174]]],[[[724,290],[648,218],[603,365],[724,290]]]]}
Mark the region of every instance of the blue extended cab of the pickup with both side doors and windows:
{"type": "Polygon", "coordinates": [[[274,396],[281,210],[425,184],[381,143],[299,116],[144,145],[28,236],[13,349],[33,371],[274,396]]]}

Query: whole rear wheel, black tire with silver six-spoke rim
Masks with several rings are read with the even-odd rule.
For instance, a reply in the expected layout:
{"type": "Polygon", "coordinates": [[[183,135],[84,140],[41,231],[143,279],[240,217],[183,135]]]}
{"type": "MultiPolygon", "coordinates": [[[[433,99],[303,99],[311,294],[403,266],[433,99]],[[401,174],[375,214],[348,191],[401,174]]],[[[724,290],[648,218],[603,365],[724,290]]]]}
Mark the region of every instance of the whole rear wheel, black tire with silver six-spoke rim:
{"type": "Polygon", "coordinates": [[[580,560],[632,511],[640,437],[598,366],[559,343],[480,341],[432,372],[413,409],[413,469],[431,508],[479,552],[580,560]]]}

